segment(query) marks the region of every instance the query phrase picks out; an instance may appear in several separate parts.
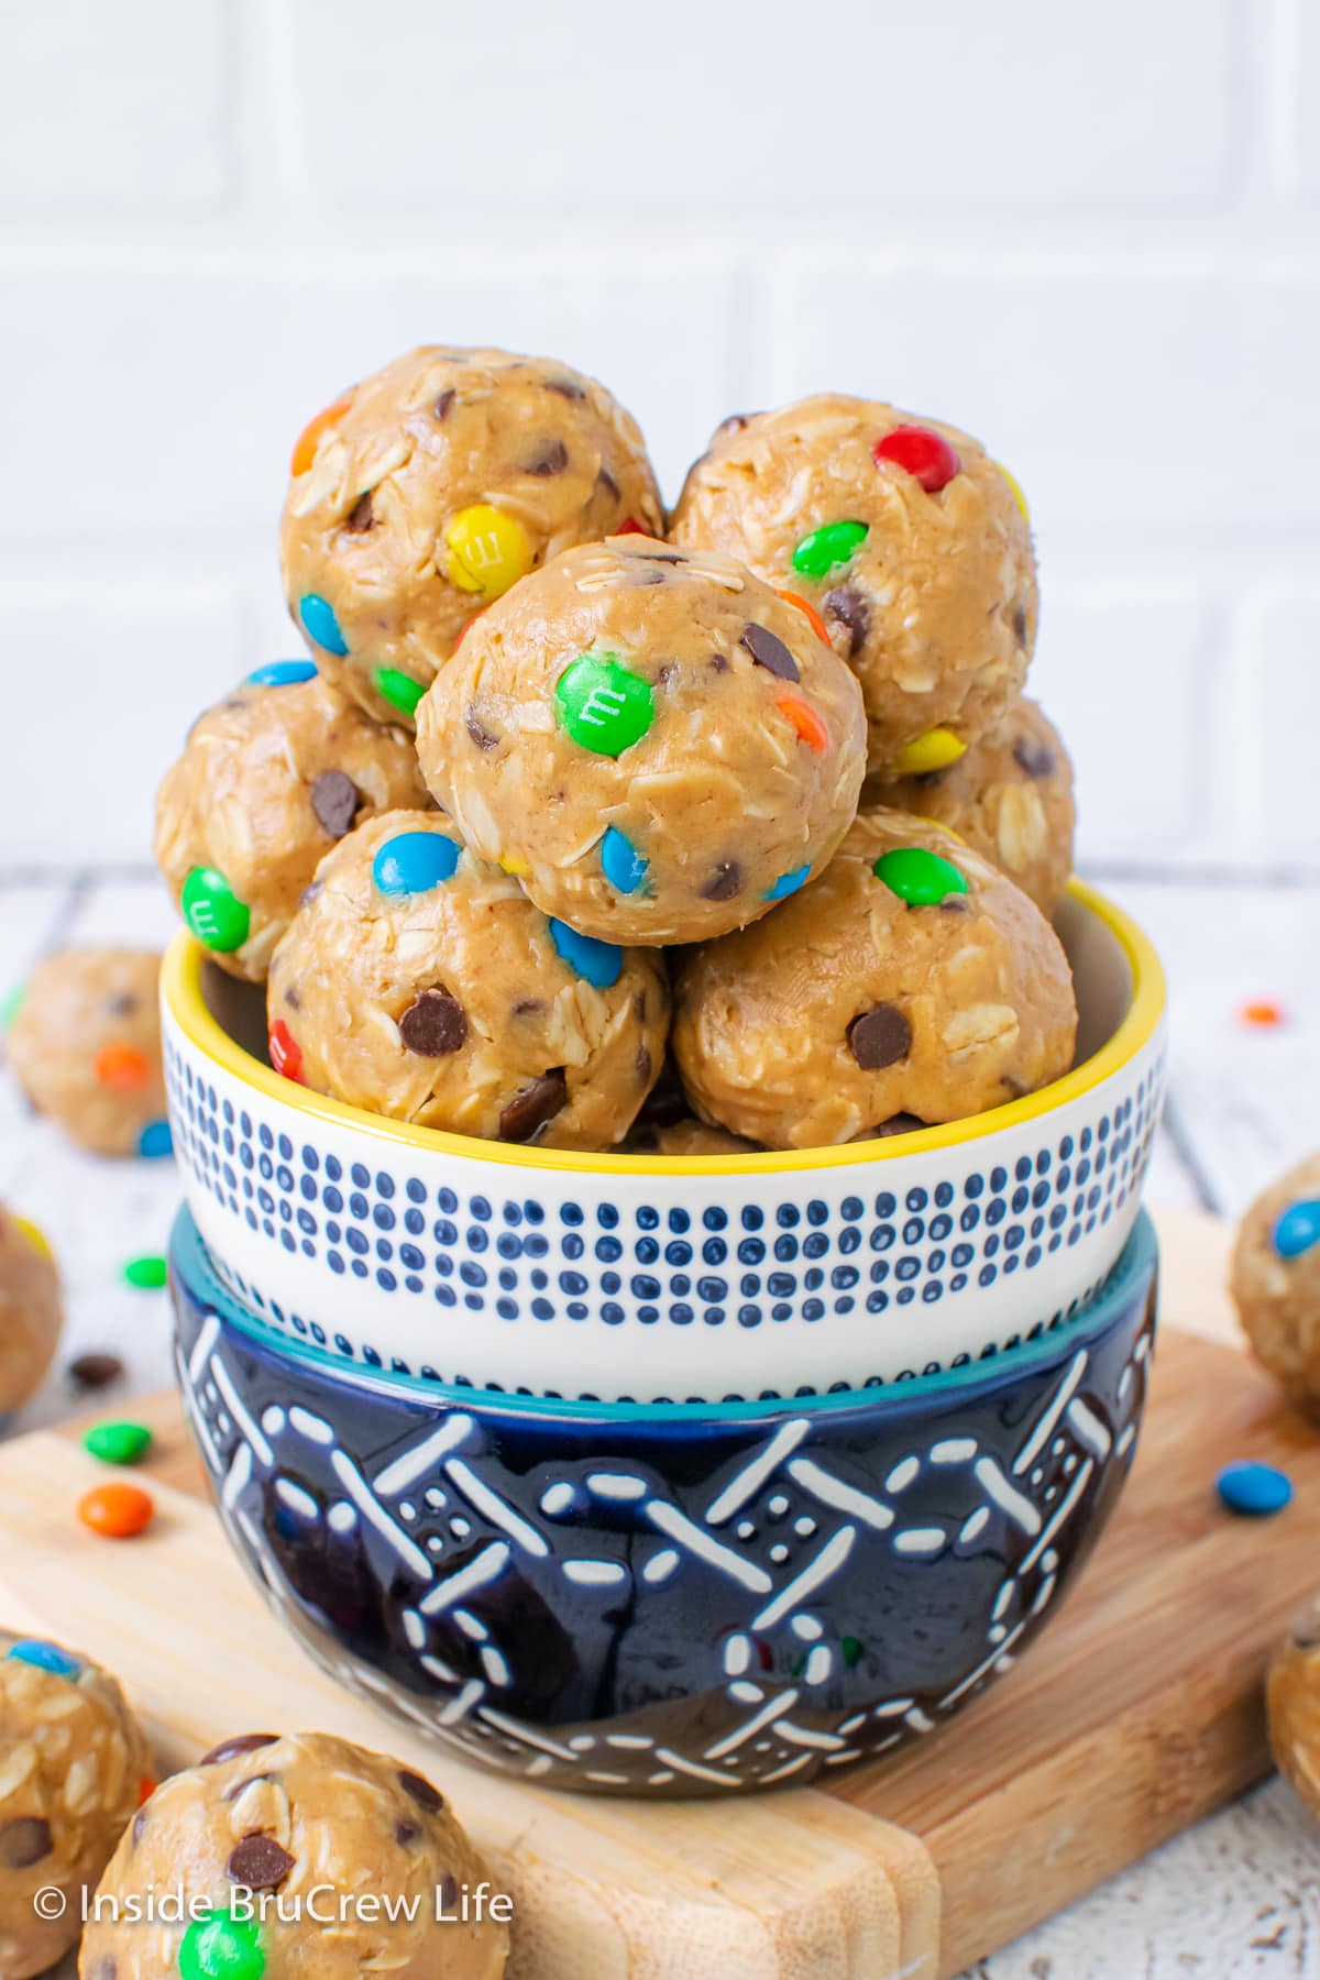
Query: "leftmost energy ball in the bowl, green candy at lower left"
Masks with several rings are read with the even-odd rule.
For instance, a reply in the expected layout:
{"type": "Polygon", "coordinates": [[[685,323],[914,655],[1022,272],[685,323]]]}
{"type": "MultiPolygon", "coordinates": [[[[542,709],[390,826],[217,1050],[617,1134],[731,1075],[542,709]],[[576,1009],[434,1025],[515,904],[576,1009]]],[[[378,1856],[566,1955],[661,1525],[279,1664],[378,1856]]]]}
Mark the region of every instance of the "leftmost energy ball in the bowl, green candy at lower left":
{"type": "Polygon", "coordinates": [[[156,798],[156,861],[216,962],[265,982],[330,845],[427,804],[412,731],[370,721],[311,659],[279,659],[194,725],[156,798]]]}

